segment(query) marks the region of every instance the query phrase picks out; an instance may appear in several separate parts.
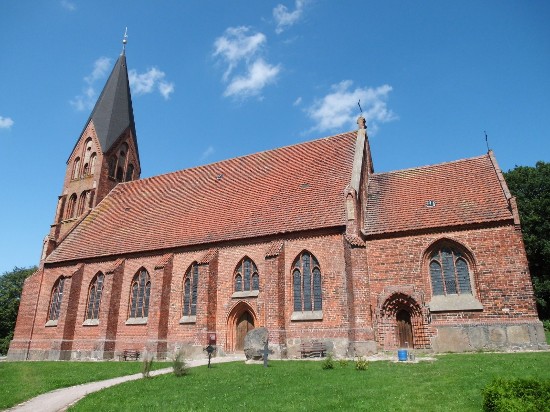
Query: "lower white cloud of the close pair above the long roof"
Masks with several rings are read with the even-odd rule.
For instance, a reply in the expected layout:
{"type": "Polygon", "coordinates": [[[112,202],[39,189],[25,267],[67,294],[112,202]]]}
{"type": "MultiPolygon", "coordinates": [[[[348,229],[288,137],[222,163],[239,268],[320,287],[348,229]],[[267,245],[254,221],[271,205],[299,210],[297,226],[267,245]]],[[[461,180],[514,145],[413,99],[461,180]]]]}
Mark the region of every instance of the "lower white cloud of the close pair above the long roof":
{"type": "Polygon", "coordinates": [[[267,84],[275,81],[280,71],[280,65],[273,66],[258,59],[248,67],[246,75],[231,80],[224,96],[245,98],[258,95],[267,84]]]}

